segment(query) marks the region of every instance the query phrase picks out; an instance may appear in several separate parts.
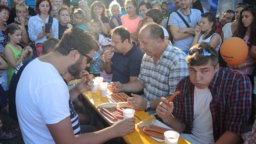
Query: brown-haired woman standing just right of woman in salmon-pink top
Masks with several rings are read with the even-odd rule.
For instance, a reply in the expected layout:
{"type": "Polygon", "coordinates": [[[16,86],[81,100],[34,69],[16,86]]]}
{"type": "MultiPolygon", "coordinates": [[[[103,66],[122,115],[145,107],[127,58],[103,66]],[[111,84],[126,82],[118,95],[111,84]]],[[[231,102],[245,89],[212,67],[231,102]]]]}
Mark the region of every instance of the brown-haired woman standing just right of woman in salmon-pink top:
{"type": "Polygon", "coordinates": [[[146,17],[146,12],[149,9],[152,9],[151,3],[149,1],[145,0],[140,3],[139,11],[140,11],[140,15],[143,17],[143,20],[140,20],[140,22],[139,22],[138,32],[140,32],[140,29],[143,27],[143,25],[148,22],[147,17],[146,17]]]}

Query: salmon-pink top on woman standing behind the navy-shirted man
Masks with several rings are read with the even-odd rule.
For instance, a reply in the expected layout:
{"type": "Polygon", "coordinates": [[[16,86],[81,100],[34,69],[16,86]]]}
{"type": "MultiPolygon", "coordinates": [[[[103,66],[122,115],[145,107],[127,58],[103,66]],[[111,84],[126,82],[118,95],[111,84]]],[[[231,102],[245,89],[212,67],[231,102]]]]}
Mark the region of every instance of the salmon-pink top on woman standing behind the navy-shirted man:
{"type": "MultiPolygon", "coordinates": [[[[131,34],[138,34],[140,20],[143,20],[140,16],[134,20],[130,20],[128,14],[121,17],[122,26],[125,26],[131,34]]],[[[133,39],[131,41],[134,41],[136,44],[138,43],[138,41],[133,39]]]]}

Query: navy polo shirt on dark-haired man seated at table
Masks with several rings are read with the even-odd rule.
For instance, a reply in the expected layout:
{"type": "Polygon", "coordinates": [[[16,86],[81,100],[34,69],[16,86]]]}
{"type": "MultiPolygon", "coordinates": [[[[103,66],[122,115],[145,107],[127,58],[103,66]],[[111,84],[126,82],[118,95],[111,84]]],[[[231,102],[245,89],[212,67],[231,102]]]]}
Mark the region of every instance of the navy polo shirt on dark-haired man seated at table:
{"type": "Polygon", "coordinates": [[[111,58],[112,81],[126,84],[130,81],[130,77],[137,77],[140,74],[140,64],[144,54],[134,42],[133,44],[134,46],[125,55],[115,52],[111,58]]]}

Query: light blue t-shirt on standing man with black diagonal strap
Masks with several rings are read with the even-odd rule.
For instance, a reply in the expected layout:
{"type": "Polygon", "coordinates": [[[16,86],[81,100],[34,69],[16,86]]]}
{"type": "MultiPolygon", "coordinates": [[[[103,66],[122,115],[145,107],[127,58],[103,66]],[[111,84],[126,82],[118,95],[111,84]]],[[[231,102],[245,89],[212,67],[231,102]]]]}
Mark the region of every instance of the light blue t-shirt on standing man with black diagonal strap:
{"type": "MultiPolygon", "coordinates": [[[[177,10],[177,12],[179,12],[184,19],[186,20],[186,22],[189,24],[189,26],[191,28],[194,28],[195,25],[201,20],[201,12],[198,9],[190,9],[191,14],[189,15],[185,15],[181,12],[181,10],[177,10]],[[190,18],[190,20],[189,20],[190,18]]],[[[169,17],[169,21],[168,21],[168,26],[170,25],[178,25],[179,28],[186,28],[186,24],[183,22],[183,20],[181,20],[181,18],[179,17],[179,15],[176,12],[172,12],[172,14],[170,14],[169,17]]],[[[188,37],[186,39],[183,40],[175,40],[173,39],[173,46],[183,50],[183,51],[189,51],[189,47],[190,44],[192,43],[194,37],[188,37]]]]}

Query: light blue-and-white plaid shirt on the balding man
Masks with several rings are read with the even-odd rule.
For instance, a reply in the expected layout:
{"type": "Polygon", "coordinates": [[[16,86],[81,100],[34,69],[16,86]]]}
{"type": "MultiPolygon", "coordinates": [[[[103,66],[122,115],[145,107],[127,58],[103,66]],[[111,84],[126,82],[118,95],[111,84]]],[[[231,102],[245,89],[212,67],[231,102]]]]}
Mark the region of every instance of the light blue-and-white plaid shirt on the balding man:
{"type": "MultiPolygon", "coordinates": [[[[153,57],[144,55],[140,66],[138,81],[144,83],[146,100],[156,100],[175,92],[178,82],[189,74],[186,55],[180,49],[168,45],[157,63],[153,57]]],[[[151,110],[148,114],[156,114],[151,110]]]]}

